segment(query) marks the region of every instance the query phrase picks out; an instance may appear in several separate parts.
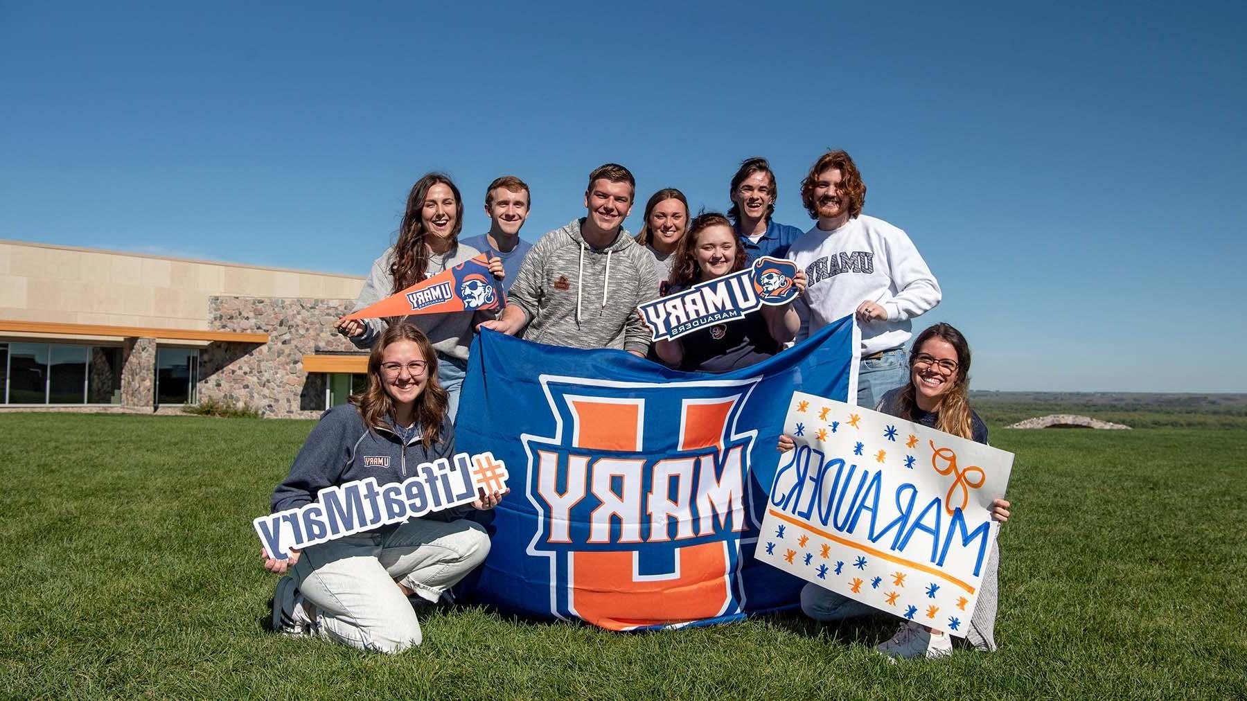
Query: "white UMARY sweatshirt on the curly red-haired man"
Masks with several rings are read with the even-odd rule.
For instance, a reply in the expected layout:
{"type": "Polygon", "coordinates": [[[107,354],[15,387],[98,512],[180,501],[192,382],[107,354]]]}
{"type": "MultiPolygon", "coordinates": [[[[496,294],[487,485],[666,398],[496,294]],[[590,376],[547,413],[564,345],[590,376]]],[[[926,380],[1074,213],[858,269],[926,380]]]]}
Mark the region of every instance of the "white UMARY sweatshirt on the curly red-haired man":
{"type": "Polygon", "coordinates": [[[862,324],[862,354],[900,348],[913,336],[910,319],[940,301],[935,276],[905,232],[874,217],[834,231],[814,225],[788,258],[806,271],[806,293],[794,302],[798,342],[869,301],[888,311],[888,321],[862,324]]]}

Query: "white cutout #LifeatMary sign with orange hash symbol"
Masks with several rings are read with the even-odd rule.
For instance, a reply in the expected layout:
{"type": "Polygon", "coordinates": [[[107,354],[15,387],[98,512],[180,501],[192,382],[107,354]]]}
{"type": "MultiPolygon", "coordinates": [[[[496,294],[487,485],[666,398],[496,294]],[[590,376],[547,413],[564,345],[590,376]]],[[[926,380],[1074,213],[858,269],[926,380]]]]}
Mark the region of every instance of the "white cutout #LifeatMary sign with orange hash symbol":
{"type": "Polygon", "coordinates": [[[384,486],[375,478],[348,481],[322,489],[317,500],[297,509],[277,511],[252,520],[264,551],[277,560],[289,556],[291,549],[403,523],[476,499],[478,490],[486,493],[506,489],[506,465],[493,453],[455,454],[454,463],[439,458],[420,463],[415,476],[384,486]]]}

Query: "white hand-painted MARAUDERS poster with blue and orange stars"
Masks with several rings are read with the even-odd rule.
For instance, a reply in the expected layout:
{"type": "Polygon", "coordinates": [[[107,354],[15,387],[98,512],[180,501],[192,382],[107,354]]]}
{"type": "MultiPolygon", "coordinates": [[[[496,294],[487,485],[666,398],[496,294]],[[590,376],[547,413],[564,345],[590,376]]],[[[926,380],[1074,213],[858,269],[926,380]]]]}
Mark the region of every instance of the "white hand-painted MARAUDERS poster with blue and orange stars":
{"type": "Polygon", "coordinates": [[[801,392],[784,433],[757,558],[965,637],[1013,454],[801,392]]]}

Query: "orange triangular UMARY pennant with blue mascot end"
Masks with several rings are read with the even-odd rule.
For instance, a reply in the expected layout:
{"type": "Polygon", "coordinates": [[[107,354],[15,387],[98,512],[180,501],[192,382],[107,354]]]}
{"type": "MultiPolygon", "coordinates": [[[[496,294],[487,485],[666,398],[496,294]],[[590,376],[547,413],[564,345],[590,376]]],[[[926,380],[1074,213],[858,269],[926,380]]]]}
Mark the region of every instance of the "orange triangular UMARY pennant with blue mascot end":
{"type": "Polygon", "coordinates": [[[506,306],[506,298],[494,279],[494,273],[489,272],[489,261],[481,253],[344,318],[379,319],[501,309],[506,306]]]}

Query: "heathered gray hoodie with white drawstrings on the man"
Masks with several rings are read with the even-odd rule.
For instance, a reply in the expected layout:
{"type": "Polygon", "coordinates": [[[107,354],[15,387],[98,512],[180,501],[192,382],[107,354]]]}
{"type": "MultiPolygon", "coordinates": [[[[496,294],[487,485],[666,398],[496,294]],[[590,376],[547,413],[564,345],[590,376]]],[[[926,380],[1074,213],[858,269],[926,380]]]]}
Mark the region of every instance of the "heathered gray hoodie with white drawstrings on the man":
{"type": "Polygon", "coordinates": [[[622,227],[610,246],[594,248],[581,222],[542,236],[524,258],[509,297],[527,316],[522,338],[645,355],[651,333],[636,307],[658,297],[653,257],[622,227]]]}

